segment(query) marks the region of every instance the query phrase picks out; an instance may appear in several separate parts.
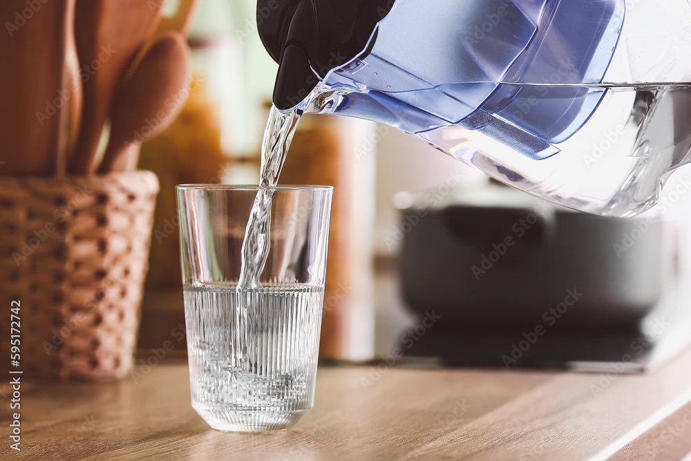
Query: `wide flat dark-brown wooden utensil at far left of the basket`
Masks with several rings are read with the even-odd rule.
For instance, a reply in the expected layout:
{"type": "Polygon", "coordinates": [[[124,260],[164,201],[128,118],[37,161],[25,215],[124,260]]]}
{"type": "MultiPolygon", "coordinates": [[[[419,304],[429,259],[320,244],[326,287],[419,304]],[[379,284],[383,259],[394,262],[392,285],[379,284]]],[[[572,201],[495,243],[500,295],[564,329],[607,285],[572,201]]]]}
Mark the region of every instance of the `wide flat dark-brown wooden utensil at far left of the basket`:
{"type": "Polygon", "coordinates": [[[0,158],[3,176],[51,176],[66,142],[65,62],[75,0],[0,1],[0,158]],[[5,33],[6,32],[6,33],[5,33]]]}

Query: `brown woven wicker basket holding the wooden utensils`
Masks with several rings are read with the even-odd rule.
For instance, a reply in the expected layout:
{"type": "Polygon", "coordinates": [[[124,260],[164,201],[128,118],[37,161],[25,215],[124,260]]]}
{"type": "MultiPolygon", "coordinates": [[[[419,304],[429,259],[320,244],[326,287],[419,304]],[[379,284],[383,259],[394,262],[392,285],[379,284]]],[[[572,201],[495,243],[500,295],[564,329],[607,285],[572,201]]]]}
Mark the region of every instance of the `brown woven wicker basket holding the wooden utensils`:
{"type": "Polygon", "coordinates": [[[149,171],[0,178],[0,354],[8,367],[10,304],[20,301],[14,369],[25,379],[129,373],[157,193],[149,171]]]}

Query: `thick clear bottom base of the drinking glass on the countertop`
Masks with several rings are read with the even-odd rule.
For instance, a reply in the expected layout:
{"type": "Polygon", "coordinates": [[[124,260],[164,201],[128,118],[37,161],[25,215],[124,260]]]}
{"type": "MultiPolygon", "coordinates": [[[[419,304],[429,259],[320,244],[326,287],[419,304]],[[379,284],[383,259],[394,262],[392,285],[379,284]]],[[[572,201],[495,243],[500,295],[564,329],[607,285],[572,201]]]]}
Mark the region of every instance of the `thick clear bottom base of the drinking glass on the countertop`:
{"type": "Polygon", "coordinates": [[[203,420],[217,431],[263,432],[290,429],[309,410],[208,410],[194,408],[203,420]]]}

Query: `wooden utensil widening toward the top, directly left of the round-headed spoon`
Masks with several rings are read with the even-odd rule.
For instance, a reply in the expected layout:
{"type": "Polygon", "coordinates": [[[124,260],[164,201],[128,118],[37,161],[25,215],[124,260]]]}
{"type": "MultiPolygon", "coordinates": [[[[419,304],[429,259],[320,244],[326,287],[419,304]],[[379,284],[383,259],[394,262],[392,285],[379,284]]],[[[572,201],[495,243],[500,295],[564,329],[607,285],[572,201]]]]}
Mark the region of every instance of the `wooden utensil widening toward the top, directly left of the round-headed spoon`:
{"type": "Polygon", "coordinates": [[[75,30],[84,77],[84,113],[70,172],[93,173],[117,82],[158,26],[163,2],[77,0],[75,30]]]}

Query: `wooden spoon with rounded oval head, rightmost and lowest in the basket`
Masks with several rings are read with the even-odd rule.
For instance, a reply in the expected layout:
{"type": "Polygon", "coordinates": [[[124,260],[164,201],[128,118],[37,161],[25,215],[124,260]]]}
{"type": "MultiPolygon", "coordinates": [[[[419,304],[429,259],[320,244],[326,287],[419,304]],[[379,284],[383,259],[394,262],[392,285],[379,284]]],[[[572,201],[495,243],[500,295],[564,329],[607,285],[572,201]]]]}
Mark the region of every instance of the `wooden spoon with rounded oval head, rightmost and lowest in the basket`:
{"type": "Polygon", "coordinates": [[[189,93],[190,59],[189,47],[177,32],[151,46],[115,93],[111,138],[99,173],[134,169],[142,142],[175,120],[189,93]]]}

